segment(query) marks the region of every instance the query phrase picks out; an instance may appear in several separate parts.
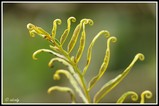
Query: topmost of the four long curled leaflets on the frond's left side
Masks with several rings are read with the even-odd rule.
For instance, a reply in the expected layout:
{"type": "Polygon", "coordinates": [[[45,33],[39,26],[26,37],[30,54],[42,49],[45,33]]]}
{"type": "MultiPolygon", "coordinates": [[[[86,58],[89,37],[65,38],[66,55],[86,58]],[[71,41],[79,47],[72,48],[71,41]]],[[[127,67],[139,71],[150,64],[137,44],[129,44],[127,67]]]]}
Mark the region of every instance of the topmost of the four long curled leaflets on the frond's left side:
{"type": "Polygon", "coordinates": [[[59,54],[59,53],[56,53],[56,52],[54,52],[54,51],[52,51],[52,50],[49,50],[49,49],[39,49],[39,50],[35,51],[35,52],[33,53],[33,55],[32,55],[32,58],[33,58],[34,60],[37,60],[37,58],[36,58],[35,56],[36,56],[37,54],[41,53],[41,52],[50,53],[50,54],[53,54],[53,55],[55,55],[55,56],[57,56],[57,57],[60,57],[60,58],[63,58],[63,59],[65,59],[65,60],[67,60],[67,58],[66,58],[65,56],[63,56],[63,55],[61,55],[61,54],[59,54]]]}

